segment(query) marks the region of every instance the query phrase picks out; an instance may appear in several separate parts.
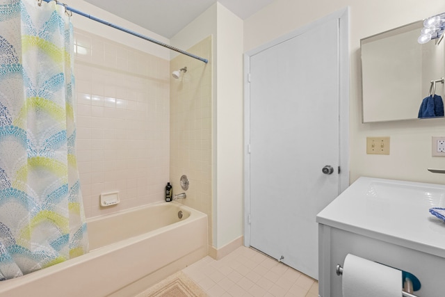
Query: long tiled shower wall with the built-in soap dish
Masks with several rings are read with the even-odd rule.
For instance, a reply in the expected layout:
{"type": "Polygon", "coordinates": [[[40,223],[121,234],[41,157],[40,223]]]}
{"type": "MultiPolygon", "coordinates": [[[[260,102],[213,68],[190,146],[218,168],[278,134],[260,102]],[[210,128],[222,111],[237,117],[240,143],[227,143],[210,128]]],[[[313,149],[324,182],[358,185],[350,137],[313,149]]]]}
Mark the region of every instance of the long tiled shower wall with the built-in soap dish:
{"type": "Polygon", "coordinates": [[[163,200],[170,61],[76,29],[77,160],[87,218],[163,200]],[[120,204],[99,195],[119,191],[120,204]]]}

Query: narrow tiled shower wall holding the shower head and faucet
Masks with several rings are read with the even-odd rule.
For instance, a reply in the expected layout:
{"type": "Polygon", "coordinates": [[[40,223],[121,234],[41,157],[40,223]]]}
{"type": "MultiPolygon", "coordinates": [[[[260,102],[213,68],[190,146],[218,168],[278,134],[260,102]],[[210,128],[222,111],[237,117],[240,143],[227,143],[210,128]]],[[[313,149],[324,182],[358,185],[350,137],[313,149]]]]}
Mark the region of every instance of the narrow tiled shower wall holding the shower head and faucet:
{"type": "Polygon", "coordinates": [[[181,78],[170,80],[170,182],[174,194],[184,190],[179,184],[187,175],[187,198],[180,202],[207,214],[209,243],[212,241],[212,70],[211,36],[187,51],[207,58],[203,63],[188,56],[170,62],[170,73],[187,67],[181,78]]]}

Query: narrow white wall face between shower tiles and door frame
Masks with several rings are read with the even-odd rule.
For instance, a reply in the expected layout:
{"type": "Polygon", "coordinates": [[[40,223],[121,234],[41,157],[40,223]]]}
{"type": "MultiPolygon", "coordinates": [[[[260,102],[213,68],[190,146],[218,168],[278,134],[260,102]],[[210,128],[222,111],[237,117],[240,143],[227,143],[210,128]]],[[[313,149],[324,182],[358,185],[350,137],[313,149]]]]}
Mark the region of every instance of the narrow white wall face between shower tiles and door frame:
{"type": "Polygon", "coordinates": [[[243,234],[243,21],[218,4],[216,248],[243,234]],[[241,125],[241,127],[240,127],[241,125]]]}

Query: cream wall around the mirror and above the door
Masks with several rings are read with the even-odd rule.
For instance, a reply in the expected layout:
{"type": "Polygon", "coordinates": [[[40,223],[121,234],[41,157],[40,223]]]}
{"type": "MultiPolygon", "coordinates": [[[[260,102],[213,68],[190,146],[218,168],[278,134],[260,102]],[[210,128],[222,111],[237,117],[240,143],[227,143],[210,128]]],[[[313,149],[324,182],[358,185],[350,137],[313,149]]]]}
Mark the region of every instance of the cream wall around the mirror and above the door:
{"type": "Polygon", "coordinates": [[[244,51],[345,6],[350,6],[350,182],[371,176],[445,184],[444,175],[426,170],[445,168],[445,158],[431,156],[431,136],[445,136],[445,119],[362,124],[359,80],[361,38],[443,13],[444,1],[276,0],[245,20],[244,51]],[[390,136],[391,154],[366,154],[366,136],[390,136]]]}

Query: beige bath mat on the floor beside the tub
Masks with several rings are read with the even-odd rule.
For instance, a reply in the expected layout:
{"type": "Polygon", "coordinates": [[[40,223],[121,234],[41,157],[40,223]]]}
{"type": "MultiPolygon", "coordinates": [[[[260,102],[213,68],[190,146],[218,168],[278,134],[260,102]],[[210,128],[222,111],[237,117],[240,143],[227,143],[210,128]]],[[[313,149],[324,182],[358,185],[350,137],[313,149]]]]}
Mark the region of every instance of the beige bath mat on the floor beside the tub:
{"type": "Polygon", "coordinates": [[[208,297],[200,286],[195,284],[182,271],[171,275],[162,282],[138,294],[136,297],[208,297]]]}

